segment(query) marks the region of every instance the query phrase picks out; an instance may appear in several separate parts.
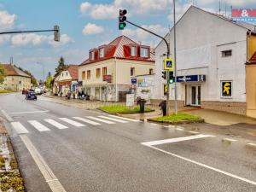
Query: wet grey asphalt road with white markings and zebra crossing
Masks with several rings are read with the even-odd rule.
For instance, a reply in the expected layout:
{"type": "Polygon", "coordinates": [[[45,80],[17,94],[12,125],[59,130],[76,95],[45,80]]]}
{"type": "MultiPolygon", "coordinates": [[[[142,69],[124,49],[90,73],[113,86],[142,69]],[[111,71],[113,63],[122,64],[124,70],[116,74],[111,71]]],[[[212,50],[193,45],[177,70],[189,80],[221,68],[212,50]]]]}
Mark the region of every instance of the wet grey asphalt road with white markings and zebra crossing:
{"type": "Polygon", "coordinates": [[[24,97],[0,96],[0,115],[27,191],[256,191],[250,140],[24,97]]]}

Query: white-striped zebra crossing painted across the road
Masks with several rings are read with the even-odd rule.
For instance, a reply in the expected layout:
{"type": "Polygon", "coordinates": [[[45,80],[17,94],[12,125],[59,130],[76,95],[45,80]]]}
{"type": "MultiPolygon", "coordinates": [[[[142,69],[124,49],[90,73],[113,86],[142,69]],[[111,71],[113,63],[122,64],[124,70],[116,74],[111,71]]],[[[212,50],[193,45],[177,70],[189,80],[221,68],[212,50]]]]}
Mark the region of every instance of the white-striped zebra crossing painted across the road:
{"type": "MultiPolygon", "coordinates": [[[[42,119],[42,120],[28,120],[28,125],[39,132],[51,131],[54,127],[59,130],[69,129],[73,127],[84,127],[87,125],[113,125],[113,124],[127,124],[129,122],[139,122],[136,119],[123,118],[114,115],[99,115],[99,116],[84,116],[84,117],[70,117],[70,118],[56,118],[56,119],[42,119]]],[[[24,124],[24,123],[23,123],[24,124]]],[[[25,122],[26,124],[26,122],[25,122]]],[[[12,122],[11,125],[18,134],[27,134],[29,130],[27,125],[22,125],[20,122],[12,122]]]]}

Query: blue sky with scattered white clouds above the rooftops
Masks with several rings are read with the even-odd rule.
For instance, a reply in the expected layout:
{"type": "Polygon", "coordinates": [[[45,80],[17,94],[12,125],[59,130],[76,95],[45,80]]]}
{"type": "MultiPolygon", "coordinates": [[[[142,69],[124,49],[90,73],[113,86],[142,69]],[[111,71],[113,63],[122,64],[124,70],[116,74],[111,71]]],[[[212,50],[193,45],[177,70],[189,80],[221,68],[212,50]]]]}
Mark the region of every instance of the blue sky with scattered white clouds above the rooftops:
{"type": "MultiPolygon", "coordinates": [[[[177,20],[189,6],[218,13],[218,0],[176,0],[177,20]]],[[[220,1],[221,14],[230,16],[230,7],[256,9],[255,0],[220,1]]],[[[120,35],[148,44],[159,38],[127,25],[118,29],[119,9],[126,9],[127,20],[164,36],[173,25],[172,0],[0,0],[0,32],[45,30],[60,26],[61,41],[54,42],[53,32],[0,35],[0,62],[31,71],[37,79],[54,74],[61,56],[66,64],[80,64],[89,50],[108,44],[120,35]]]]}

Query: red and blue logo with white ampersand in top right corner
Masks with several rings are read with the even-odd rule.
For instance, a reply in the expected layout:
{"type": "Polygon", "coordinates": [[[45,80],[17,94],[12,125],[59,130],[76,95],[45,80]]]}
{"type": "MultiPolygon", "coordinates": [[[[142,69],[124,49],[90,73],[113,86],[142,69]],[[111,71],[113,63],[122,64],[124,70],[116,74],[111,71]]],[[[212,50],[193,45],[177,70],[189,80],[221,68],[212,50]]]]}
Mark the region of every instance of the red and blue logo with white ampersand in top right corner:
{"type": "Polygon", "coordinates": [[[232,9],[232,19],[256,24],[256,9],[232,9]]]}

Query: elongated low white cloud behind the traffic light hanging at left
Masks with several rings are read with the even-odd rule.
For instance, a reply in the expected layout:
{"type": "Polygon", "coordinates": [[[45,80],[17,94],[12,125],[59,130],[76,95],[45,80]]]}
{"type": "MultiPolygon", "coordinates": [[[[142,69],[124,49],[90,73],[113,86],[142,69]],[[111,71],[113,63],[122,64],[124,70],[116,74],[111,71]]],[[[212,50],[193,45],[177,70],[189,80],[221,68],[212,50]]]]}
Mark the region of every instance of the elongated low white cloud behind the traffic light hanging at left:
{"type": "Polygon", "coordinates": [[[29,34],[14,35],[11,38],[11,42],[14,46],[26,46],[26,45],[36,46],[36,45],[48,43],[55,48],[73,42],[73,39],[67,36],[67,34],[61,35],[60,42],[54,42],[53,39],[54,39],[53,35],[46,36],[46,35],[38,35],[36,33],[29,33],[29,34]]]}

